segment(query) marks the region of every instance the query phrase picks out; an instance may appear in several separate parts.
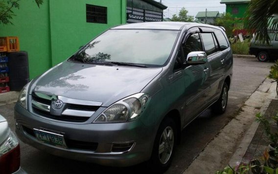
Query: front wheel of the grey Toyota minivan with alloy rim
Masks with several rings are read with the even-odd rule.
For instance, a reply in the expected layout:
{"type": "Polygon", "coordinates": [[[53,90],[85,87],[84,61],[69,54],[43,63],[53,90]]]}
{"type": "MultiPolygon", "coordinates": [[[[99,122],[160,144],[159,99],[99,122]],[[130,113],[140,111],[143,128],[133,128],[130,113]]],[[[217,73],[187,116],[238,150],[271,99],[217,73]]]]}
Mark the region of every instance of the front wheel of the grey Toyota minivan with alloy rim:
{"type": "Polygon", "coordinates": [[[173,119],[166,117],[158,129],[149,163],[149,168],[154,173],[161,174],[169,168],[175,152],[176,142],[176,124],[173,119]],[[163,135],[168,138],[165,139],[163,135]],[[163,147],[161,152],[160,147],[163,147]]]}

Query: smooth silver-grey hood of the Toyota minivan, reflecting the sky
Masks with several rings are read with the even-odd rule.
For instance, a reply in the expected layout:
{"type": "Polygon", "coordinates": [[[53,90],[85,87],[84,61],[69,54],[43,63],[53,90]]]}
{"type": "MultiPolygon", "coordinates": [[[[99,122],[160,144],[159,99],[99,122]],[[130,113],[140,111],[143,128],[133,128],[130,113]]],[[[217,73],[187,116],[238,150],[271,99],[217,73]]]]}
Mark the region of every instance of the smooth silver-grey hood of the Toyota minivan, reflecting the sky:
{"type": "Polygon", "coordinates": [[[139,93],[162,68],[106,66],[65,61],[48,70],[30,84],[33,91],[74,99],[114,102],[139,93]]]}

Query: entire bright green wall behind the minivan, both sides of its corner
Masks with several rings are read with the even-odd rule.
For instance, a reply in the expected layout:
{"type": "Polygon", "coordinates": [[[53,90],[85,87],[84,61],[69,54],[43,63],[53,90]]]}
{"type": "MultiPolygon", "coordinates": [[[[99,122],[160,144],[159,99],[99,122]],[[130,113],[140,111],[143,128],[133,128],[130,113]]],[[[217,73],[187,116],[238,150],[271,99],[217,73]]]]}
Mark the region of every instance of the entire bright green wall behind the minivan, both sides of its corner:
{"type": "Polygon", "coordinates": [[[14,12],[14,25],[1,26],[0,36],[20,38],[34,78],[108,28],[126,23],[126,0],[44,0],[41,8],[24,0],[14,12]],[[106,6],[107,24],[86,22],[86,3],[106,6]]]}

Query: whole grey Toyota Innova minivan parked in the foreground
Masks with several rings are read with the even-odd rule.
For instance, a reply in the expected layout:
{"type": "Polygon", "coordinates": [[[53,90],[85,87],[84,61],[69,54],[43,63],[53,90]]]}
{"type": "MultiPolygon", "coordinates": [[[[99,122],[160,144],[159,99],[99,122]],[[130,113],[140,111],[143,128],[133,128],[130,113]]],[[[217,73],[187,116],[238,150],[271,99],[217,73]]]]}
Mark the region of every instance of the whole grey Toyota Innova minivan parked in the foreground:
{"type": "Polygon", "coordinates": [[[15,106],[17,135],[53,155],[107,166],[169,167],[181,131],[225,112],[232,50],[220,27],[113,27],[36,77],[15,106]]]}

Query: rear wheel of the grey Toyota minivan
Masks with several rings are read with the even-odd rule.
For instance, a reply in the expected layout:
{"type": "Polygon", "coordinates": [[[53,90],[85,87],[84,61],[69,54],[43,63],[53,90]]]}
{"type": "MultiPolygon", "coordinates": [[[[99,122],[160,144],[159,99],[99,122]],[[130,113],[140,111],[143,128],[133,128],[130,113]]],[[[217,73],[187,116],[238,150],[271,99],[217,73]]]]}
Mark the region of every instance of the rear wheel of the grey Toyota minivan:
{"type": "Polygon", "coordinates": [[[228,93],[229,88],[226,82],[224,82],[221,95],[218,100],[212,105],[211,111],[215,114],[223,114],[226,111],[227,104],[228,104],[228,93]]]}

